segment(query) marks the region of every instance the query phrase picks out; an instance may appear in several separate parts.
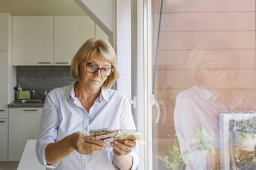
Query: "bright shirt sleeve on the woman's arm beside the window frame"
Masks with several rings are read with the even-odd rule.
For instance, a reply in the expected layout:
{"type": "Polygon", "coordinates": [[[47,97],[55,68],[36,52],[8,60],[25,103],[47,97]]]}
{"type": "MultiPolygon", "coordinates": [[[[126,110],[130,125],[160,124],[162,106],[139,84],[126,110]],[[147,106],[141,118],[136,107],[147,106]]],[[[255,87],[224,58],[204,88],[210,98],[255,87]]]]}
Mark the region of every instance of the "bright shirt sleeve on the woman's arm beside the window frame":
{"type": "MultiPolygon", "coordinates": [[[[131,114],[131,104],[129,103],[129,100],[124,97],[122,103],[122,113],[121,113],[121,119],[120,119],[120,129],[122,130],[136,130],[136,126],[134,124],[134,118],[131,114]]],[[[134,147],[133,151],[131,152],[131,155],[133,157],[133,165],[131,167],[131,170],[135,170],[138,166],[139,158],[138,158],[138,143],[136,147],[134,147]]]]}

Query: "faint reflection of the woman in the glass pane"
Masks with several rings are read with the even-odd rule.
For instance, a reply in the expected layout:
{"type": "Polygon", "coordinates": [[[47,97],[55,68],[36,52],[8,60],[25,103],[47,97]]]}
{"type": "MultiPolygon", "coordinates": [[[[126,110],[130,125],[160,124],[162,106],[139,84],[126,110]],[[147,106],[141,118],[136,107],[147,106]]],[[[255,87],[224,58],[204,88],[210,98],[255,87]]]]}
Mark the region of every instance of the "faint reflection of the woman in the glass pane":
{"type": "Polygon", "coordinates": [[[195,50],[189,56],[193,86],[176,98],[175,131],[186,169],[220,167],[219,114],[253,110],[246,91],[232,90],[239,80],[237,56],[195,50]]]}

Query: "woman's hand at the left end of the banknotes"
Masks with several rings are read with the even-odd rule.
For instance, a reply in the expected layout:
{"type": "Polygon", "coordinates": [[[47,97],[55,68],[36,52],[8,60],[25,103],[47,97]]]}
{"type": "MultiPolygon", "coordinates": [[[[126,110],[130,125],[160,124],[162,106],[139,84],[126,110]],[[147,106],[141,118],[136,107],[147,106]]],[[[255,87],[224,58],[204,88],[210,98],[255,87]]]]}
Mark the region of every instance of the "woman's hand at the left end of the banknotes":
{"type": "Polygon", "coordinates": [[[107,149],[106,143],[83,132],[74,132],[70,135],[70,145],[80,154],[92,155],[107,149]]]}

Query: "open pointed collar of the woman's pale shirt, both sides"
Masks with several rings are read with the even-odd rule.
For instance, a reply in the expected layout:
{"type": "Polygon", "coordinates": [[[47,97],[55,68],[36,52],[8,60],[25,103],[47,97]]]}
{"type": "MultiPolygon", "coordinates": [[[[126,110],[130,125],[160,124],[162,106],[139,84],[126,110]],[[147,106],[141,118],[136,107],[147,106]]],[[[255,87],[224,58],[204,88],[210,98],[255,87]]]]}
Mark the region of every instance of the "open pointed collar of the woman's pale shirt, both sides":
{"type": "MultiPolygon", "coordinates": [[[[74,93],[74,85],[76,84],[76,82],[73,82],[72,84],[70,84],[69,86],[67,86],[67,90],[65,93],[65,99],[69,99],[70,97],[72,97],[73,99],[76,99],[76,94],[74,93]]],[[[106,101],[109,101],[109,94],[107,89],[100,89],[100,101],[102,99],[105,99],[106,101]]]]}

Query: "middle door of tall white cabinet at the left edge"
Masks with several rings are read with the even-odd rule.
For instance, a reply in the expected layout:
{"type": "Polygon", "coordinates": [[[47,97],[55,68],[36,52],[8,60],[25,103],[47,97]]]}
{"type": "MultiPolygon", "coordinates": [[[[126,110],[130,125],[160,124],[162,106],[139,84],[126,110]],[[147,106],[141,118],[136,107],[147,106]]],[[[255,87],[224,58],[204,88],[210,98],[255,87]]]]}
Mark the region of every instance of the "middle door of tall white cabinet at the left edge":
{"type": "Polygon", "coordinates": [[[8,67],[7,51],[0,51],[0,118],[8,118],[8,99],[7,99],[7,67],[8,67]]]}

